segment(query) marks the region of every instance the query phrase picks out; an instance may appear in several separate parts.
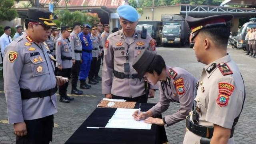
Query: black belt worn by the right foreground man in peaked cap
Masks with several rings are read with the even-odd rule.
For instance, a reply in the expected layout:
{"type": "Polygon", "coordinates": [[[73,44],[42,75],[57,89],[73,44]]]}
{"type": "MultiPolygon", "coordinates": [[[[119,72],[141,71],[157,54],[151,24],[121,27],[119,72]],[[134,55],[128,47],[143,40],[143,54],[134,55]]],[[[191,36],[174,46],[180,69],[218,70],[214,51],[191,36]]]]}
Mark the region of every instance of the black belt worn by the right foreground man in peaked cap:
{"type": "MultiPolygon", "coordinates": [[[[195,124],[194,122],[190,121],[189,116],[186,117],[186,128],[188,128],[190,132],[193,132],[194,134],[202,136],[204,138],[212,138],[213,135],[213,127],[195,124]]],[[[230,131],[230,138],[233,137],[233,134],[234,128],[232,128],[230,131]]]]}

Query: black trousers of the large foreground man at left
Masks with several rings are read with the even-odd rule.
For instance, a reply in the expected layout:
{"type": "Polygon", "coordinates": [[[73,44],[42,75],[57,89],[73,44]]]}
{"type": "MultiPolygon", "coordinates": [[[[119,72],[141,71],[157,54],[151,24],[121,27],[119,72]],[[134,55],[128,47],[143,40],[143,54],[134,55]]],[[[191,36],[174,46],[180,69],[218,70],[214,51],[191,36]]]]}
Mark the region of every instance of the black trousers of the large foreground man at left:
{"type": "Polygon", "coordinates": [[[53,115],[24,122],[28,133],[16,136],[16,144],[49,144],[52,141],[53,115]]]}

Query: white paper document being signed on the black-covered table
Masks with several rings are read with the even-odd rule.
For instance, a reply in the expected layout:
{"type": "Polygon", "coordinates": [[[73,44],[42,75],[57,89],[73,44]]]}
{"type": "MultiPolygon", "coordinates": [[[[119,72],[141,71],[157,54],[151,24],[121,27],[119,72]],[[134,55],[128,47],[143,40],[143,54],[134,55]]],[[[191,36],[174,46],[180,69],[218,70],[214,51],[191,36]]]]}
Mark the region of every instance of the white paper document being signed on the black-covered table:
{"type": "Polygon", "coordinates": [[[144,120],[134,120],[132,114],[139,109],[117,108],[116,112],[109,119],[105,128],[128,128],[150,130],[152,124],[146,124],[144,120]]]}

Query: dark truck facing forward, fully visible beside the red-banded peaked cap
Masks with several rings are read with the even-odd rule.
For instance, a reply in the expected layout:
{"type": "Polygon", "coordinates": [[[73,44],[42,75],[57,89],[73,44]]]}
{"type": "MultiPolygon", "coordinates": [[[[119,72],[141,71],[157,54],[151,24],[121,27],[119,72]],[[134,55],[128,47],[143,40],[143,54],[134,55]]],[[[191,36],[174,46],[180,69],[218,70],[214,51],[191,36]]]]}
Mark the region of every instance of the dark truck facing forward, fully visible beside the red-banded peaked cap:
{"type": "Polygon", "coordinates": [[[164,46],[167,44],[184,46],[188,43],[190,29],[182,16],[162,14],[161,20],[163,23],[161,42],[164,46]]]}

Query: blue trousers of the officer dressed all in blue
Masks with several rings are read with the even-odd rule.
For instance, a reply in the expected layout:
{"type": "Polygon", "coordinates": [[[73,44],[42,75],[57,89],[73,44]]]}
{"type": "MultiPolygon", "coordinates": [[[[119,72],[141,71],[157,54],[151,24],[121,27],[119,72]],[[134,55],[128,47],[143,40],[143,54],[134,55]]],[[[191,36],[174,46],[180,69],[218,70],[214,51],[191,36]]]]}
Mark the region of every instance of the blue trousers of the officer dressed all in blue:
{"type": "Polygon", "coordinates": [[[86,80],[91,66],[92,60],[88,56],[83,56],[85,53],[87,52],[82,52],[82,64],[80,64],[79,80],[86,80]]]}

